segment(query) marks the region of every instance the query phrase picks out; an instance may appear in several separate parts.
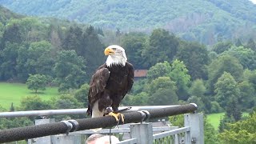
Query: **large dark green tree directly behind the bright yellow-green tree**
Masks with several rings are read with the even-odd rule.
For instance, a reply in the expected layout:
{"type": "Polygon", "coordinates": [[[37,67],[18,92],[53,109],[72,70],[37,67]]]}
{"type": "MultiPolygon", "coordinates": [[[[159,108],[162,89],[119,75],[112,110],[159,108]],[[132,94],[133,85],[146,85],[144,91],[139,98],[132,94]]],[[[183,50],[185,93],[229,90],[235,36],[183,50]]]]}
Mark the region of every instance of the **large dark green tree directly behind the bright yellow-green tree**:
{"type": "Polygon", "coordinates": [[[178,47],[175,58],[184,62],[192,80],[207,78],[206,65],[208,65],[209,57],[206,46],[197,42],[183,42],[178,47]]]}

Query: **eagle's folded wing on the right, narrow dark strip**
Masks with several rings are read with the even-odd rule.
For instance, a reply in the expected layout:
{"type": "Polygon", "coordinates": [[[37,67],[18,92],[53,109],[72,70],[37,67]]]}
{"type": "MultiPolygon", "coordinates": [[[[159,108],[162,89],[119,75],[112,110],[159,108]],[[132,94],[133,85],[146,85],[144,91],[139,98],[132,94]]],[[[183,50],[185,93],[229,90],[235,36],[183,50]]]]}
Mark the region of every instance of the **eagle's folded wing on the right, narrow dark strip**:
{"type": "Polygon", "coordinates": [[[131,90],[133,84],[134,84],[134,66],[130,64],[129,62],[126,62],[127,68],[128,68],[128,75],[127,75],[127,88],[122,94],[122,98],[125,97],[125,95],[131,90]]]}

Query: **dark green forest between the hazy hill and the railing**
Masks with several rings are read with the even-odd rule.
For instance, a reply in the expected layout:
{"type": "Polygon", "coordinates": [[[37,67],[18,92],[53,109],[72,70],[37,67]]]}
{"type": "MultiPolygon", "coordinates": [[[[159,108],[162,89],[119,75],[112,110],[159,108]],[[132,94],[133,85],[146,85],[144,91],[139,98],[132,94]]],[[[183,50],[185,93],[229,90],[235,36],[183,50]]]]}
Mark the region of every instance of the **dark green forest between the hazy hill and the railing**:
{"type": "MultiPolygon", "coordinates": [[[[224,4],[213,2],[225,9],[224,4]]],[[[25,83],[43,78],[48,86],[58,87],[58,98],[42,101],[38,96],[27,97],[16,110],[86,107],[90,77],[106,60],[104,48],[118,44],[126,49],[135,69],[148,70],[146,78],[134,82],[122,105],[194,102],[205,114],[225,112],[219,134],[205,124],[210,135],[207,142],[215,142],[218,135],[216,143],[234,143],[240,134],[239,138],[249,143],[255,140],[256,129],[256,45],[255,37],[249,36],[219,38],[213,46],[206,46],[164,28],[128,33],[55,18],[26,17],[0,6],[0,81],[25,83]],[[242,112],[249,112],[249,118],[243,120],[242,112]],[[251,129],[246,127],[248,123],[251,129]]],[[[0,111],[6,110],[0,106],[0,111]]],[[[30,125],[32,119],[2,118],[0,129],[30,125]]]]}

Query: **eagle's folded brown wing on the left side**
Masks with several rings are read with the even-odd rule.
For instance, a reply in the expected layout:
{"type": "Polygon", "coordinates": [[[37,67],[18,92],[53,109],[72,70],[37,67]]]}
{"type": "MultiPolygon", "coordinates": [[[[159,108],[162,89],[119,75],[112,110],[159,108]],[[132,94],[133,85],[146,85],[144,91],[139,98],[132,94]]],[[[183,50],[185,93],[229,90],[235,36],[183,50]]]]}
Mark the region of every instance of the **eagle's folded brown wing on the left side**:
{"type": "Polygon", "coordinates": [[[90,89],[88,93],[87,114],[91,115],[94,102],[101,98],[101,93],[106,87],[106,82],[110,78],[110,71],[106,69],[106,64],[98,67],[90,80],[90,89]]]}

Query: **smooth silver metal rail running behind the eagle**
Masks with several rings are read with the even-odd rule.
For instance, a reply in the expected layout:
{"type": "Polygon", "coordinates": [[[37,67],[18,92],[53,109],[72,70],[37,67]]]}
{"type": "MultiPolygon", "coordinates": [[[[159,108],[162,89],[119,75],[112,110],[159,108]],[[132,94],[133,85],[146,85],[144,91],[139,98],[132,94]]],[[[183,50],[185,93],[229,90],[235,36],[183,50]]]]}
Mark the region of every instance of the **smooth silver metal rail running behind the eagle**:
{"type": "MultiPolygon", "coordinates": [[[[174,105],[178,106],[178,105],[174,105]]],[[[119,107],[119,110],[125,109],[129,106],[119,107]]],[[[138,110],[154,110],[173,106],[131,106],[130,110],[124,113],[135,112],[138,110]]],[[[29,110],[29,111],[14,111],[2,112],[0,118],[14,118],[14,117],[29,117],[29,116],[49,116],[49,115],[68,115],[68,114],[86,114],[86,109],[63,109],[63,110],[29,110]]]]}

